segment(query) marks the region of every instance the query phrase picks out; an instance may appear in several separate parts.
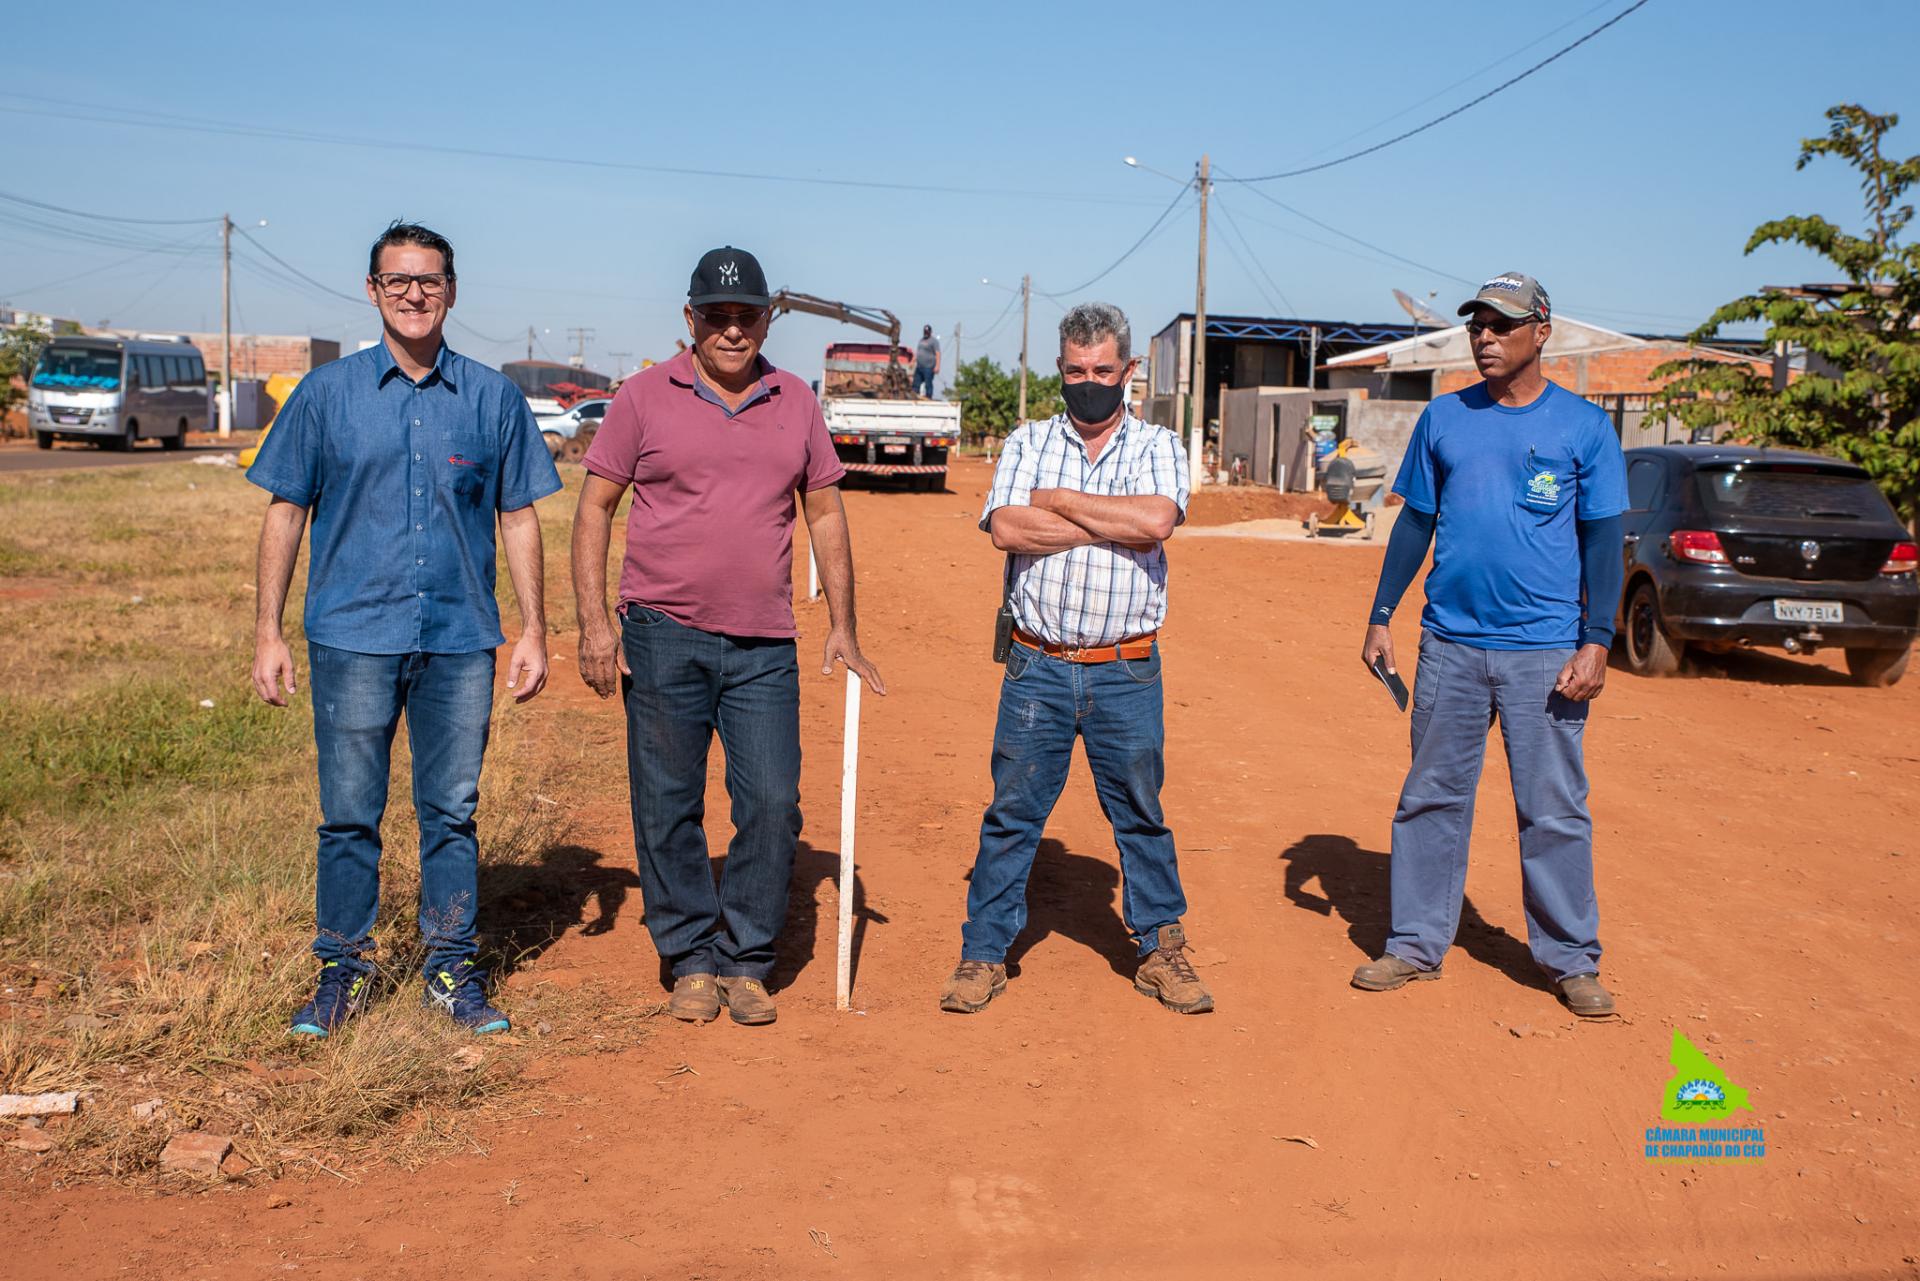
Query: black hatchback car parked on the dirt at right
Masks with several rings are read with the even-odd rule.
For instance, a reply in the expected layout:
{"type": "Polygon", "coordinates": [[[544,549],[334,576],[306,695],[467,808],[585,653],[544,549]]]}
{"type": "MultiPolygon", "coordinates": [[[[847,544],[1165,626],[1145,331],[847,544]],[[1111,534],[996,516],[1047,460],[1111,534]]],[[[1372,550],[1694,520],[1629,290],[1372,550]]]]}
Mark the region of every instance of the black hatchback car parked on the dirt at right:
{"type": "Polygon", "coordinates": [[[1626,451],[1620,647],[1644,676],[1688,647],[1847,651],[1866,686],[1907,672],[1920,553],[1853,463],[1749,446],[1626,451]]]}

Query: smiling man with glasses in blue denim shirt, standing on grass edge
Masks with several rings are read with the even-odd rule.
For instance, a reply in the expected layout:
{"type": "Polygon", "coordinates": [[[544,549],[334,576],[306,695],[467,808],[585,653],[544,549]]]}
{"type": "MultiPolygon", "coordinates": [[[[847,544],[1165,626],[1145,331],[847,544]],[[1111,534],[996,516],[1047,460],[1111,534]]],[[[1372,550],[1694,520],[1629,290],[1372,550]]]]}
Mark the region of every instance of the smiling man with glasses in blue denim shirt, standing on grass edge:
{"type": "Polygon", "coordinates": [[[303,626],[319,747],[321,981],[292,1031],[324,1037],[359,1012],[380,905],[380,816],[394,730],[407,714],[420,824],[426,999],[476,1033],[505,1031],[474,966],[480,847],[474,807],[493,711],[493,522],[520,607],[507,663],[516,701],[547,682],[540,520],[561,488],[526,398],[442,340],[453,246],[394,223],[374,242],[367,298],[382,342],[307,375],[248,480],[273,494],[259,536],[253,689],[294,691],[280,632],[300,534],[313,515],[303,626]]]}

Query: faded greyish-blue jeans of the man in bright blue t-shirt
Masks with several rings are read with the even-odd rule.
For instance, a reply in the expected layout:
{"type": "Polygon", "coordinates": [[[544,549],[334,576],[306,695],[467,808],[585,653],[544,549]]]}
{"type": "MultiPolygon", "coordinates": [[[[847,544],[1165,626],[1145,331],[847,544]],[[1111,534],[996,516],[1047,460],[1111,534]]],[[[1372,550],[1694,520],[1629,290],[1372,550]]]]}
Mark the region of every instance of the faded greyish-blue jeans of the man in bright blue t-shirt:
{"type": "Polygon", "coordinates": [[[1421,634],[1413,768],[1394,812],[1394,930],[1386,951],[1432,970],[1459,931],[1473,797],[1500,720],[1521,828],[1526,941],[1548,978],[1599,970],[1586,703],[1553,693],[1572,649],[1475,649],[1421,634]]]}

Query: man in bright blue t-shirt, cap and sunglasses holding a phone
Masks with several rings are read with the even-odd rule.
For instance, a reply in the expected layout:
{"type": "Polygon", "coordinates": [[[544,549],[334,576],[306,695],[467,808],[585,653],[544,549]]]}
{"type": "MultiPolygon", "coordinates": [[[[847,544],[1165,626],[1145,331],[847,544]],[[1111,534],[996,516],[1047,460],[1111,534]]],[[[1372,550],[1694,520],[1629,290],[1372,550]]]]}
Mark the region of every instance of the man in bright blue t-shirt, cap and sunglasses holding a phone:
{"type": "Polygon", "coordinates": [[[1461,303],[1484,382],[1434,399],[1394,480],[1394,524],[1361,661],[1394,665],[1388,620],[1432,542],[1413,766],[1394,812],[1392,933],[1354,987],[1440,978],[1459,930],[1473,797],[1498,716],[1521,828],[1526,937],[1574,1014],[1613,1014],[1599,985],[1594,820],[1582,734],[1607,682],[1620,603],[1626,467],[1601,409],[1540,373],[1548,292],[1505,273],[1461,303]]]}

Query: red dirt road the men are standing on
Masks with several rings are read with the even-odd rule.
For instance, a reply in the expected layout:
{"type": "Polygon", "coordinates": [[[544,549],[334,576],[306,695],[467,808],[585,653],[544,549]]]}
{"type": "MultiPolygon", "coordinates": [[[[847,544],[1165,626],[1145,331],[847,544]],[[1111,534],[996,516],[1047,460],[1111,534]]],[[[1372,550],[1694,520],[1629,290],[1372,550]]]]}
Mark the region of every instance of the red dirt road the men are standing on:
{"type": "MultiPolygon", "coordinates": [[[[1356,657],[1379,553],[1177,536],[1165,807],[1219,1012],[1179,1018],[1127,981],[1112,839],[1075,762],[1018,978],[985,1014],[941,1014],[998,680],[983,484],[970,463],[945,495],[849,495],[862,641],[891,688],[862,726],[858,1014],[833,1010],[843,686],[810,674],[774,1027],[657,1018],[637,1049],[543,1060],[484,1152],[417,1173],[165,1198],[15,1185],[6,1273],[1920,1275],[1920,1037],[1901,1014],[1920,678],[1857,689],[1832,661],[1770,657],[1611,674],[1588,734],[1624,1014],[1607,1024],[1574,1026],[1532,974],[1496,739],[1446,978],[1369,995],[1346,978],[1384,937],[1407,755],[1356,657]],[[1676,1027],[1751,1093],[1728,1124],[1764,1125],[1764,1160],[1644,1158],[1676,1027]]],[[[803,659],[824,624],[803,605],[803,659]]],[[[1407,657],[1415,628],[1409,607],[1407,657]]],[[[574,839],[630,870],[618,711],[570,674],[570,638],[557,653],[545,714],[603,747],[574,839]]],[[[718,853],[718,789],[708,814],[718,853]]],[[[632,893],[505,1004],[593,979],[639,1010],[655,974],[632,893]]]]}

